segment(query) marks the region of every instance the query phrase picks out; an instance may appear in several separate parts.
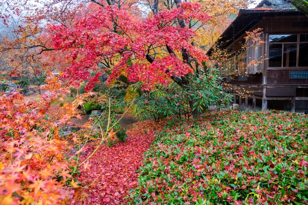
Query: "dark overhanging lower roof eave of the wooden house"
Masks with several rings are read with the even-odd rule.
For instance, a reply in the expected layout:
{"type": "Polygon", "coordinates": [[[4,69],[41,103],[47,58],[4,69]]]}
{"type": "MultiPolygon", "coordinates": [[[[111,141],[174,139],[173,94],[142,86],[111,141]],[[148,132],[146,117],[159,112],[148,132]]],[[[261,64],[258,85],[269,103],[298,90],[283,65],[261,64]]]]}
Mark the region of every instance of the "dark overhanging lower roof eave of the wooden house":
{"type": "MultiPolygon", "coordinates": [[[[264,4],[264,0],[260,4],[264,4]]],[[[259,4],[259,5],[260,5],[259,4]]],[[[259,6],[258,5],[258,6],[259,6]]],[[[238,16],[228,26],[228,28],[220,35],[216,45],[221,49],[227,48],[238,37],[255,26],[263,17],[283,17],[283,16],[304,15],[296,9],[275,9],[256,7],[255,9],[240,9],[238,16]]],[[[206,54],[210,55],[213,47],[206,54]]]]}

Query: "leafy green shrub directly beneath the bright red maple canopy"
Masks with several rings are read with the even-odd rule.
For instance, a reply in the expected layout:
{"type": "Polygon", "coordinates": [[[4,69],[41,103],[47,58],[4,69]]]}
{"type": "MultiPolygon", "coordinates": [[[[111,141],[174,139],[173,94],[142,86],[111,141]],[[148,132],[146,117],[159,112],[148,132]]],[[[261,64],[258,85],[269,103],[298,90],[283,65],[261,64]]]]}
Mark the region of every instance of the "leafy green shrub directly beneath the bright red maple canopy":
{"type": "Polygon", "coordinates": [[[184,115],[188,119],[208,110],[210,106],[228,106],[231,96],[223,92],[215,69],[202,75],[191,75],[190,84],[176,83],[157,86],[133,101],[133,114],[141,119],[153,117],[156,121],[170,115],[184,115]]]}

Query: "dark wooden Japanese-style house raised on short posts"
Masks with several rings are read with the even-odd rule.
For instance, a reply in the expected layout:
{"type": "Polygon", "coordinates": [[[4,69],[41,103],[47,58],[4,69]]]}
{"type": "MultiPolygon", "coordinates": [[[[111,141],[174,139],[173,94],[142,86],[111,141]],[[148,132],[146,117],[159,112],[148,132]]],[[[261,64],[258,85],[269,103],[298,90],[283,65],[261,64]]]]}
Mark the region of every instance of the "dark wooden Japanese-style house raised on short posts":
{"type": "MultiPolygon", "coordinates": [[[[245,97],[253,98],[253,107],[258,100],[262,110],[308,109],[308,17],[291,3],[283,0],[262,1],[255,9],[241,9],[233,23],[222,33],[217,42],[220,49],[235,53],[230,60],[234,67],[222,66],[220,75],[230,85],[241,88],[239,104],[245,97]],[[247,31],[261,28],[260,40],[264,43],[247,42],[247,31]],[[243,52],[239,52],[239,50],[243,52]],[[239,54],[240,53],[240,54],[239,54]],[[247,66],[252,60],[261,63],[247,66]],[[235,75],[234,71],[240,73],[235,75]]],[[[211,48],[207,54],[213,54],[211,48]]],[[[237,98],[235,98],[235,101],[237,98]]]]}

